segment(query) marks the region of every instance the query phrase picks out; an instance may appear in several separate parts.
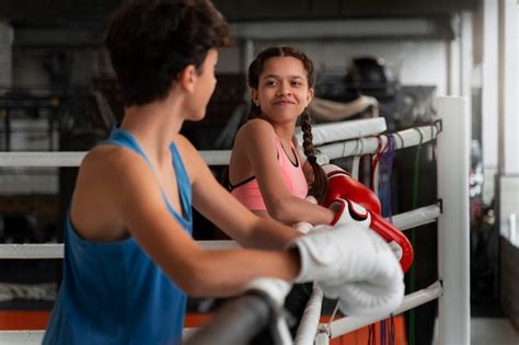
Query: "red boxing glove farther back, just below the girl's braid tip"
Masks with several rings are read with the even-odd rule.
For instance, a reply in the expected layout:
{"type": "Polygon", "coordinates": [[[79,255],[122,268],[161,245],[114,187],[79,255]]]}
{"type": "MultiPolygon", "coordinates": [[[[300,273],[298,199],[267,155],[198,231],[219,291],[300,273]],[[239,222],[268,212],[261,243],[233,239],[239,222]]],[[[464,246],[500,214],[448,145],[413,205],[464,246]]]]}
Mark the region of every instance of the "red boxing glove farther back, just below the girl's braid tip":
{"type": "Polygon", "coordinates": [[[364,206],[371,212],[381,214],[380,200],[370,188],[353,179],[345,170],[334,164],[324,164],[321,168],[326,173],[328,189],[324,207],[328,207],[334,200],[344,198],[364,206]]]}

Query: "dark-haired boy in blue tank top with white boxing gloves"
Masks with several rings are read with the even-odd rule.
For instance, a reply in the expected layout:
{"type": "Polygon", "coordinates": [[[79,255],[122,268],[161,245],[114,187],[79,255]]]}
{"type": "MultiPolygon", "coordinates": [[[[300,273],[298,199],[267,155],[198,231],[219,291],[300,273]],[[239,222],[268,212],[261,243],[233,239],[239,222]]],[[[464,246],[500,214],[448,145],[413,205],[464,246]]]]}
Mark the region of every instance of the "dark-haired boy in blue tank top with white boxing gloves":
{"type": "Polygon", "coordinates": [[[399,267],[365,231],[300,235],[258,218],[180,135],[184,120],[204,118],[218,50],[230,44],[208,0],[135,0],[112,18],[106,47],[125,116],[81,163],[44,344],[175,344],[186,294],[232,296],[261,277],[326,281],[326,295],[358,307],[362,299],[343,287],[399,267]],[[247,249],[201,248],[191,237],[192,206],[247,249]]]}

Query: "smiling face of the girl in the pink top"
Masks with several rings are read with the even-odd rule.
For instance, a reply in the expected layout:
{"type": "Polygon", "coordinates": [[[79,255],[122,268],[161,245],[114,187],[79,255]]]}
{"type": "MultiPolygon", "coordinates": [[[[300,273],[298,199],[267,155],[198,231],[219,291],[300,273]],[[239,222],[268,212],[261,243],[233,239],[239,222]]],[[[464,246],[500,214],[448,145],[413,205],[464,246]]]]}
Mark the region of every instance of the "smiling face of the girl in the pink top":
{"type": "Polygon", "coordinates": [[[313,99],[303,64],[290,56],[265,61],[252,101],[262,108],[263,117],[275,123],[296,123],[313,99]]]}

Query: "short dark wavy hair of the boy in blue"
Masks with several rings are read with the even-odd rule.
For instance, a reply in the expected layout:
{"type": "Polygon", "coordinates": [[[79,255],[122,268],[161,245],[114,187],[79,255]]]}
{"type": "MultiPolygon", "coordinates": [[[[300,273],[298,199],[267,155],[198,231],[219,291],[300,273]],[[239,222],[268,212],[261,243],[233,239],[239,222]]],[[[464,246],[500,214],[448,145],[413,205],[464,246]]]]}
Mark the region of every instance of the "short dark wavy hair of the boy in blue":
{"type": "Polygon", "coordinates": [[[132,0],[112,16],[105,44],[130,106],[165,97],[184,68],[200,73],[208,50],[232,39],[209,0],[132,0]]]}

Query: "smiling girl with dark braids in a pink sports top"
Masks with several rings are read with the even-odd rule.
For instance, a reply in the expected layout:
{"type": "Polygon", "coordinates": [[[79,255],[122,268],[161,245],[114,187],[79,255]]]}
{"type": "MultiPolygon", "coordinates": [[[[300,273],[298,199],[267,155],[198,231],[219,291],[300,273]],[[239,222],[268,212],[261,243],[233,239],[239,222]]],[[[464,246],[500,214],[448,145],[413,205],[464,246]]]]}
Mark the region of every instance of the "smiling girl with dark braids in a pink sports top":
{"type": "MultiPolygon", "coordinates": [[[[327,188],[316,162],[308,111],[314,95],[313,62],[296,48],[270,47],[257,55],[247,77],[251,114],[234,140],[228,175],[231,194],[256,215],[289,226],[331,223],[334,211],[307,198],[321,202],[327,188]],[[304,159],[295,138],[298,119],[304,159]]],[[[285,308],[297,321],[311,289],[311,284],[295,285],[286,298],[285,308]]],[[[291,326],[292,335],[298,323],[291,326]]],[[[261,333],[254,344],[269,343],[268,336],[261,333]]]]}

